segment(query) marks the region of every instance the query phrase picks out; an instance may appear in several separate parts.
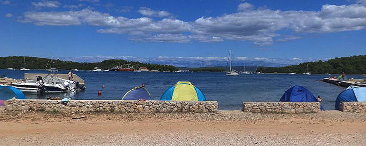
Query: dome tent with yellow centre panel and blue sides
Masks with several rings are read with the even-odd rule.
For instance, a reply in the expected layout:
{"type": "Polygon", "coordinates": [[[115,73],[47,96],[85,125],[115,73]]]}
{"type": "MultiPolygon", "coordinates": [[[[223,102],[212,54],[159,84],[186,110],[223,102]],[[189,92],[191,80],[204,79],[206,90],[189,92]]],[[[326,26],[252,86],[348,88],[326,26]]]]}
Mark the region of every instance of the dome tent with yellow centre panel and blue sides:
{"type": "Polygon", "coordinates": [[[160,100],[172,101],[206,101],[203,92],[191,82],[179,81],[174,86],[164,91],[160,100]]]}

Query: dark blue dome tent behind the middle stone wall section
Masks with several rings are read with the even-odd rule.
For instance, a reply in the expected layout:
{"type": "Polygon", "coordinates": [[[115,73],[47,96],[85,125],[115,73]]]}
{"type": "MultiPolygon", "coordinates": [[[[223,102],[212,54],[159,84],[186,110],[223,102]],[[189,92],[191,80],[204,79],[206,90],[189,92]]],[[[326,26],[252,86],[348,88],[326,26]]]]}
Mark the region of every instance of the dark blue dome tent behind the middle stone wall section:
{"type": "MultiPolygon", "coordinates": [[[[282,102],[319,102],[313,93],[308,91],[305,87],[295,85],[285,91],[280,101],[282,102]]],[[[321,110],[324,110],[323,106],[320,106],[321,110]]]]}

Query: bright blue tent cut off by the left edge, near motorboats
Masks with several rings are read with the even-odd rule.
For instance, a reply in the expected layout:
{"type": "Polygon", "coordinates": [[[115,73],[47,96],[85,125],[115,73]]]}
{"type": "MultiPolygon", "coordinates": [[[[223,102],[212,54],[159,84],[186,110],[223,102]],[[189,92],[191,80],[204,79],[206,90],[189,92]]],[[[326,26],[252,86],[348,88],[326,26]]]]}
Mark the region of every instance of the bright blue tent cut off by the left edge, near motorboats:
{"type": "Polygon", "coordinates": [[[13,97],[17,99],[25,99],[23,92],[12,86],[2,86],[0,85],[0,106],[4,106],[6,100],[12,99],[13,97]]]}

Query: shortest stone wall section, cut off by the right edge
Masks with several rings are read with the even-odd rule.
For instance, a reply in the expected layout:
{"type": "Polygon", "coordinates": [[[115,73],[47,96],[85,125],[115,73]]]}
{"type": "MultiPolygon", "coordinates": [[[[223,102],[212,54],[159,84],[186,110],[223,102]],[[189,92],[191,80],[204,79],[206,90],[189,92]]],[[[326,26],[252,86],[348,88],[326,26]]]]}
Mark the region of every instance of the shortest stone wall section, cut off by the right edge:
{"type": "Polygon", "coordinates": [[[341,102],[339,110],[344,112],[366,112],[366,102],[341,102]]]}

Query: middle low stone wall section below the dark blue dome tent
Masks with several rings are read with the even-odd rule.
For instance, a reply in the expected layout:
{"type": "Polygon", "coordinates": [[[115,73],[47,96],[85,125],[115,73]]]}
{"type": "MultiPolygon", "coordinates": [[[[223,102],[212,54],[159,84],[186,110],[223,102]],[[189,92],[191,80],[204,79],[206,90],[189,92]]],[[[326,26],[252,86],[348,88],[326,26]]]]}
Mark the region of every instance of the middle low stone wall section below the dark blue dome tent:
{"type": "Polygon", "coordinates": [[[243,102],[244,112],[309,113],[319,112],[319,102],[243,102]]]}

